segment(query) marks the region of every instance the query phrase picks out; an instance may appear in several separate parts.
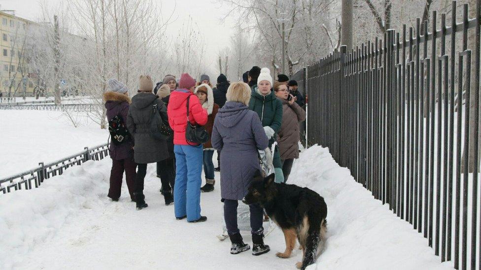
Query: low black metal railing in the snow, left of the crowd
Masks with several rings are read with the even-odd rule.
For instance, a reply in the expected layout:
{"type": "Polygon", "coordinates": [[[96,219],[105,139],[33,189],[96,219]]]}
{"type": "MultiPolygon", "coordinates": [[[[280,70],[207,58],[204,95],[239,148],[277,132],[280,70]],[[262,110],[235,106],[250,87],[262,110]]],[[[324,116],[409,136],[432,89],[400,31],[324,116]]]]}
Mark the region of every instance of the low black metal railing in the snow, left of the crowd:
{"type": "Polygon", "coordinates": [[[69,167],[80,165],[88,160],[101,160],[106,156],[108,156],[108,145],[103,144],[93,148],[86,147],[79,153],[51,163],[40,162],[32,170],[0,179],[0,194],[39,187],[44,180],[62,175],[69,167]]]}

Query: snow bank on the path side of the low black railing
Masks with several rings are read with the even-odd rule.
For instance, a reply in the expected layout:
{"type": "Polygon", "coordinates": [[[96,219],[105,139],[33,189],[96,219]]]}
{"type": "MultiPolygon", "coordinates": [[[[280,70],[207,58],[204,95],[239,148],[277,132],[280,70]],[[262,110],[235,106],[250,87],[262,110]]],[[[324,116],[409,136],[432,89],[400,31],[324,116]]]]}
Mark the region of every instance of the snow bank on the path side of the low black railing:
{"type": "Polygon", "coordinates": [[[99,207],[111,160],[87,161],[39,188],[0,198],[0,269],[10,269],[38,244],[52,238],[79,211],[99,207]],[[103,183],[103,184],[99,184],[103,183]]]}

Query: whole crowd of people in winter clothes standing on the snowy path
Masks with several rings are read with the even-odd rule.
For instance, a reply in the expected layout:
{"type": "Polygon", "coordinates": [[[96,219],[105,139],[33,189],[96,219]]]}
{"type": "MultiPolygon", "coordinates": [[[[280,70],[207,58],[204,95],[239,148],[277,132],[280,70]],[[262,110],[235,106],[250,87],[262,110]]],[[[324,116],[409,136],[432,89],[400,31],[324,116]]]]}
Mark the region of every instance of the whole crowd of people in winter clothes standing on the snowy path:
{"type": "MultiPolygon", "coordinates": [[[[166,205],[174,204],[177,220],[190,223],[206,221],[201,215],[200,195],[214,190],[214,171],[220,171],[224,219],[232,241],[231,253],[250,249],[243,243],[237,225],[238,201],[247,193],[254,174],[261,170],[259,151],[277,147],[273,152],[275,181],[287,181],[294,159],[299,157],[299,122],[306,119],[304,97],[297,82],[279,74],[273,81],[268,68],[252,67],[243,82],[230,83],[220,74],[215,87],[207,75],[198,81],[183,73],[154,83],[140,76],[137,94],[115,79],[108,80],[103,95],[107,119],[120,119],[129,136],[110,144],[112,169],[108,197],[120,198],[125,171],[127,187],[137,210],[148,205],[143,194],[148,163],[157,163],[157,177],[166,205]],[[172,136],[159,139],[151,134],[152,114],[172,129],[172,136]],[[187,125],[203,126],[209,140],[193,144],[186,139],[187,125]],[[217,150],[218,167],[213,154],[217,150]],[[202,185],[202,169],[206,184],[202,185]]],[[[270,250],[264,244],[263,210],[250,205],[252,254],[270,250]]]]}

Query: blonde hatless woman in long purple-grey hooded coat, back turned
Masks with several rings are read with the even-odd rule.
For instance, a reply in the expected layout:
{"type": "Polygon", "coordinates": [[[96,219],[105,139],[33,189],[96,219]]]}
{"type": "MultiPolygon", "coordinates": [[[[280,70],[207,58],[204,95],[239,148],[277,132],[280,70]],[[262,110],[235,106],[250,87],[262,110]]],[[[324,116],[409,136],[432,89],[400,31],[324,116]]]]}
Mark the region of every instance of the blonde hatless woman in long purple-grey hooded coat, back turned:
{"type": "MultiPolygon", "coordinates": [[[[258,150],[265,150],[269,145],[259,116],[247,107],[250,93],[247,84],[233,83],[227,90],[227,102],[217,113],[212,129],[212,147],[221,151],[220,187],[224,219],[232,242],[231,254],[250,249],[242,241],[237,227],[238,201],[247,194],[254,174],[261,169],[258,150]]],[[[252,255],[261,255],[270,250],[263,240],[263,210],[259,205],[249,207],[252,255]]]]}

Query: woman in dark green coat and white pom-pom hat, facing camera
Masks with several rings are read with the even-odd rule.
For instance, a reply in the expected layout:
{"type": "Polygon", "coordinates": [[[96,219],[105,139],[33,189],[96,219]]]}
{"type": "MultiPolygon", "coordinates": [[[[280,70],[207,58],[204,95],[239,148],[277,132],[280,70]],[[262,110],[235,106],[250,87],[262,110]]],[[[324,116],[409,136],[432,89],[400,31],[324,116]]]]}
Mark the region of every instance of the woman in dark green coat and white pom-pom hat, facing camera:
{"type": "MultiPolygon", "coordinates": [[[[264,131],[269,138],[269,146],[275,142],[282,124],[282,102],[275,97],[272,86],[271,71],[264,67],[257,78],[257,86],[252,88],[252,97],[249,101],[249,109],[256,112],[262,121],[264,131]]],[[[275,182],[284,182],[278,148],[275,148],[273,163],[275,182]]]]}

